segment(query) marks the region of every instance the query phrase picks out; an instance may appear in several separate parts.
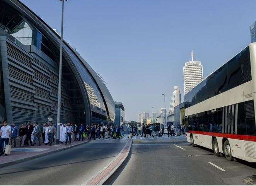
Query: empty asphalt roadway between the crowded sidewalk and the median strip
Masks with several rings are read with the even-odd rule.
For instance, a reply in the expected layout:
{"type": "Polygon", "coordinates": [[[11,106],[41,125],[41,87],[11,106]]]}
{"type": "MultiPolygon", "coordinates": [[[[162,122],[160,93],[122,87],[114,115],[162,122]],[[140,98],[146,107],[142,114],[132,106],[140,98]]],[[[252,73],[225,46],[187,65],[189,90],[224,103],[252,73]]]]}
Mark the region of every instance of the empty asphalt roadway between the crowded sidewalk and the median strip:
{"type": "Polygon", "coordinates": [[[125,142],[91,141],[1,168],[0,185],[80,185],[112,161],[125,142]]]}

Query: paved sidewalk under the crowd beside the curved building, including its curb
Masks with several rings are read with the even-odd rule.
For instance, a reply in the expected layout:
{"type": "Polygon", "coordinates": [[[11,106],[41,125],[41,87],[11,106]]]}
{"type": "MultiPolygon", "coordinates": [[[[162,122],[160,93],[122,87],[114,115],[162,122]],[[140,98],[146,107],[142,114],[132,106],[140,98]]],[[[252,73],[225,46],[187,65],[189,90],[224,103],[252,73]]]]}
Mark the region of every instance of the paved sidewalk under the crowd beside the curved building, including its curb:
{"type": "Polygon", "coordinates": [[[34,145],[34,146],[25,146],[25,147],[19,147],[19,148],[12,148],[11,154],[8,156],[2,155],[0,156],[0,168],[9,166],[12,164],[17,164],[23,161],[31,160],[34,158],[39,158],[41,156],[45,156],[54,152],[62,151],[65,149],[69,149],[81,144],[85,144],[89,142],[90,140],[84,140],[84,141],[73,141],[71,142],[71,145],[65,145],[65,144],[59,144],[59,145],[44,145],[41,144],[41,146],[34,145]]]}

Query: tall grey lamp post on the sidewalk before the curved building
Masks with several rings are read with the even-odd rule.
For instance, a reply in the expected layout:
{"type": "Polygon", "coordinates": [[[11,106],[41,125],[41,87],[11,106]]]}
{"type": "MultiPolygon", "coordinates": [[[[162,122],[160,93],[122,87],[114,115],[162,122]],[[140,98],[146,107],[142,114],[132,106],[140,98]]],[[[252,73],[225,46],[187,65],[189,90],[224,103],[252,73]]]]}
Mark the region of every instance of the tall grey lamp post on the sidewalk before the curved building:
{"type": "Polygon", "coordinates": [[[62,70],[62,41],[63,41],[63,15],[64,15],[64,1],[62,1],[61,12],[61,34],[60,34],[60,64],[59,64],[59,84],[58,84],[58,109],[57,109],[57,126],[56,126],[56,144],[60,143],[60,102],[61,102],[61,70],[62,70]]]}

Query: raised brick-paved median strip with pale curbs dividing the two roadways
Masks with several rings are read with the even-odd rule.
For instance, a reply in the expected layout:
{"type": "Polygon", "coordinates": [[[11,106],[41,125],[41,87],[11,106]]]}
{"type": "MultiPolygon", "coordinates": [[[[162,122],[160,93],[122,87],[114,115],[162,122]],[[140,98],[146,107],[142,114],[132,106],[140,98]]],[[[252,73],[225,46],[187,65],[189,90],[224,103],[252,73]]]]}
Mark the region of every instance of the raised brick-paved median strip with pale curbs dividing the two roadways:
{"type": "Polygon", "coordinates": [[[114,158],[107,166],[105,166],[101,171],[96,173],[90,179],[85,181],[82,185],[107,185],[109,184],[114,175],[118,173],[120,169],[122,169],[123,165],[130,158],[131,152],[131,144],[132,140],[128,139],[123,149],[119,152],[119,154],[114,158]]]}

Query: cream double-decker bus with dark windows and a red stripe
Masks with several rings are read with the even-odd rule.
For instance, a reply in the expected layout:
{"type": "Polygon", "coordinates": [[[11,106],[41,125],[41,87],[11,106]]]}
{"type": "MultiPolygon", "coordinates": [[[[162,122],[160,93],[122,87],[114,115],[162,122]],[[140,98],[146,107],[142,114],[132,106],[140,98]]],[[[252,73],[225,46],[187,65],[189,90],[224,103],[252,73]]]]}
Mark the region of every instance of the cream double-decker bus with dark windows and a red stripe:
{"type": "Polygon", "coordinates": [[[256,162],[256,43],[184,96],[187,141],[216,156],[256,162]]]}

